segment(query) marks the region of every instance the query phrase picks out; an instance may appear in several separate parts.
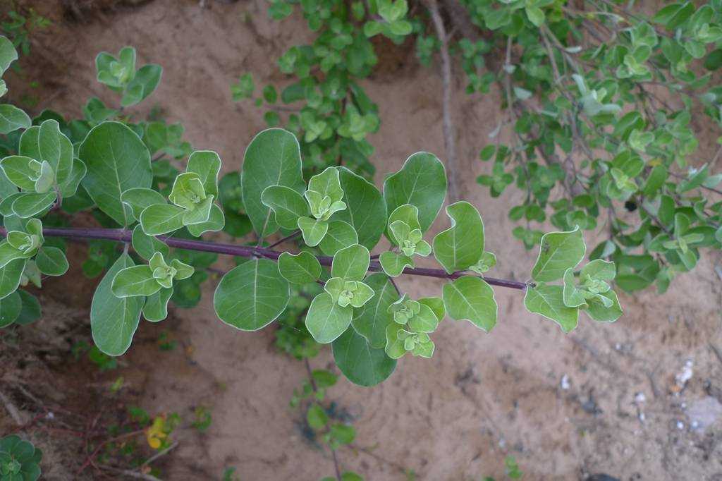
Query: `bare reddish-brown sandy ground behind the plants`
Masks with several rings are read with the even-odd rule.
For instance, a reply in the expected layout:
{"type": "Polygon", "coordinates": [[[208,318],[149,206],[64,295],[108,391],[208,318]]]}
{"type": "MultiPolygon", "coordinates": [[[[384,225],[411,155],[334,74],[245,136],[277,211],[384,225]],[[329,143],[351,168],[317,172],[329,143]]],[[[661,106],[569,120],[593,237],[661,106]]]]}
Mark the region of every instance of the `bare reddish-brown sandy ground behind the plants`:
{"type": "MultiPolygon", "coordinates": [[[[51,69],[40,78],[48,99],[41,96],[38,108],[79,115],[91,95],[113,99],[95,83],[93,58],[101,50],[134,45],[140,63],[165,69],[150,103],[161,105],[169,121],[183,123],[194,148],[217,150],[224,169],[237,170],[245,146],[264,124],[251,103],[231,102],[229,84],[251,70],[256,85],[284,86],[287,79],[270,60],[308,38],[300,16],[270,22],[265,9],[266,2],[258,0],[209,0],[206,8],[198,1],[156,0],[81,22],[58,19],[47,34],[55,40],[43,38],[42,51],[34,53],[39,62],[67,71],[51,69]]],[[[370,138],[377,181],[413,152],[443,157],[438,69],[417,66],[408,45],[384,56],[382,64],[364,82],[383,121],[370,138]]],[[[526,280],[536,253],[513,239],[513,223],[506,218],[519,193],[491,199],[474,182],[490,168],[477,160],[478,150],[504,114],[496,92],[468,97],[463,89],[457,78],[462,195],[482,212],[487,248],[499,259],[494,275],[526,280]]],[[[432,233],[445,227],[440,217],[432,233]]],[[[228,262],[222,259],[219,266],[228,262]]],[[[521,293],[497,289],[499,324],[490,334],[447,320],[434,335],[432,360],[407,356],[380,386],[340,381],[329,391],[330,399],[356,417],[355,446],[371,453],[342,449],[342,468],[374,481],[405,480],[406,469],[419,480],[500,480],[503,459],[513,454],[527,480],[580,480],[600,472],[619,480],[722,480],[722,420],[693,429],[687,415],[705,398],[710,405],[722,402],[722,281],[714,271],[719,263],[718,254],[707,253],[695,274],[674,282],[663,297],[652,291],[621,295],[625,315],[616,324],[585,318],[569,335],[527,313],[521,293]],[[675,392],[674,378],[688,362],[693,376],[675,392]]],[[[438,295],[441,287],[433,280],[402,284],[415,296],[438,295]]],[[[163,479],[220,479],[231,466],[243,481],[332,475],[330,454],[304,441],[301,413],[288,407],[305,378],[303,363],[274,349],[272,329],[243,333],[218,321],[213,288],[214,282],[206,285],[198,308],[175,310],[159,326],[142,324],[121,369],[100,381],[97,374],[89,378],[108,383],[123,374],[139,404],[152,413],[189,414],[199,404],[212,408],[209,430],[178,433],[178,448],[158,464],[163,479]],[[155,338],[163,330],[183,348],[159,352],[155,338]]],[[[43,329],[52,331],[48,324],[60,319],[80,319],[87,335],[86,291],[90,287],[73,296],[82,307],[70,311],[67,300],[44,294],[49,307],[43,329]]],[[[330,365],[330,350],[311,363],[330,365]]],[[[6,372],[3,380],[17,377],[6,372]]],[[[55,459],[45,479],[64,479],[75,466],[77,459],[55,459]]]]}

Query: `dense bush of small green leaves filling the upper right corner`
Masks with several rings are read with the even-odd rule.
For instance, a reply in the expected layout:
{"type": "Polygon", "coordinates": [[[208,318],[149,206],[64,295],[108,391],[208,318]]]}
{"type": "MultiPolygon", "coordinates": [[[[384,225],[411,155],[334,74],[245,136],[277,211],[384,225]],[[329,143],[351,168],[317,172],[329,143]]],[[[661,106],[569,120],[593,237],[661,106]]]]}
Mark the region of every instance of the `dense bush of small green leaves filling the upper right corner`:
{"type": "Polygon", "coordinates": [[[699,248],[722,246],[722,202],[710,198],[722,151],[690,166],[702,163],[692,112],[722,123],[722,90],[711,83],[722,66],[722,2],[668,2],[651,17],[621,0],[583,10],[560,0],[462,4],[486,32],[455,45],[467,91],[498,82],[508,110],[480,152],[493,166],[478,181],[492,196],[512,184],[525,192],[509,217],[524,222],[513,234],[527,248],[542,235],[532,222],[604,227],[609,238],[591,259],[614,260],[623,290],[656,282],[663,293],[695,267],[699,248]],[[505,124],[509,144],[500,140],[505,124]]]}

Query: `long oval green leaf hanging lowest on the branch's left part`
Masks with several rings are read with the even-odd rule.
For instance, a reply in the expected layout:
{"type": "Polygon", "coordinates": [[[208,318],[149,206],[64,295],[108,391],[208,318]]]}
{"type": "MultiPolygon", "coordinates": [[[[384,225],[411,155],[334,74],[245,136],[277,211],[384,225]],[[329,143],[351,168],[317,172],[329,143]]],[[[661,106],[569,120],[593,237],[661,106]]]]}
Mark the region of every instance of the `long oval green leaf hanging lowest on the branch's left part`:
{"type": "Polygon", "coordinates": [[[143,298],[118,298],[111,291],[116,274],[132,266],[133,260],[127,254],[118,257],[97,286],[90,306],[93,341],[110,356],[119,356],[128,350],[140,321],[143,298]]]}

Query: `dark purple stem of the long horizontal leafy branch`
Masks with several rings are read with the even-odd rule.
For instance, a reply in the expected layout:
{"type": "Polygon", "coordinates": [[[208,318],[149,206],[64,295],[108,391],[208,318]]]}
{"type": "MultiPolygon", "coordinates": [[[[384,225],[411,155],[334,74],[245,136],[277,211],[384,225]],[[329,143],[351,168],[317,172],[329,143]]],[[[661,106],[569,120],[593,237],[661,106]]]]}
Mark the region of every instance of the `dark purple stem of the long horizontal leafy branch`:
{"type": "MultiPolygon", "coordinates": [[[[6,229],[0,228],[0,237],[6,235],[6,229]]],[[[103,241],[115,241],[123,243],[131,243],[131,231],[123,229],[105,229],[105,228],[43,228],[45,237],[63,237],[63,238],[81,238],[81,239],[102,239],[103,241]]],[[[223,254],[236,257],[254,257],[277,260],[282,251],[274,251],[266,247],[238,246],[235,244],[214,243],[206,241],[195,241],[191,239],[173,238],[168,235],[157,236],[159,241],[166,243],[169,247],[187,249],[189,251],[213,252],[215,254],[223,254]]],[[[334,258],[330,256],[316,256],[319,264],[331,267],[334,258]]],[[[383,272],[381,264],[378,261],[371,261],[368,267],[370,272],[383,272]]],[[[473,276],[469,272],[458,271],[448,274],[443,269],[428,269],[425,267],[414,267],[413,269],[404,269],[404,274],[435,277],[436,279],[453,280],[463,276],[473,276]]],[[[479,276],[474,276],[479,277],[479,276]]],[[[480,277],[487,284],[498,287],[508,287],[510,289],[526,290],[526,287],[534,284],[531,282],[518,282],[506,279],[496,279],[494,277],[480,277]]]]}

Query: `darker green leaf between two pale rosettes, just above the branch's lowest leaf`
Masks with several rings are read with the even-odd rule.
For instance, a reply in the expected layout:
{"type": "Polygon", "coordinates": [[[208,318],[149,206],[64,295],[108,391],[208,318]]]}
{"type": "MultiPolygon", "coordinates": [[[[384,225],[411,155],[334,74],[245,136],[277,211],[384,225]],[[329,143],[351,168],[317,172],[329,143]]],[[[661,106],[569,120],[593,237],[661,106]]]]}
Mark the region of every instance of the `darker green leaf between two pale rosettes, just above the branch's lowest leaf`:
{"type": "Polygon", "coordinates": [[[371,274],[364,283],[373,289],[374,295],[364,306],[355,311],[351,321],[356,332],[367,339],[374,349],[383,349],[386,345],[386,326],[393,322],[388,306],[399,298],[393,284],[381,272],[371,274]]]}

